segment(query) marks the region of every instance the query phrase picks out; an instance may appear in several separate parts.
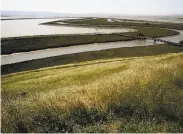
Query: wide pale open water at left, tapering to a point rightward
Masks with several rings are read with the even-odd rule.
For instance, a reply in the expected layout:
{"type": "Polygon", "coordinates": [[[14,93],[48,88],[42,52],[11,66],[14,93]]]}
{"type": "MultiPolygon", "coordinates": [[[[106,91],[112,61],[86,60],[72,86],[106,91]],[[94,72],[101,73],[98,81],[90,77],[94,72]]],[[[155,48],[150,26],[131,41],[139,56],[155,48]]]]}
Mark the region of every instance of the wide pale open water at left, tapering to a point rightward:
{"type": "Polygon", "coordinates": [[[53,35],[53,34],[93,34],[93,33],[118,33],[132,32],[129,28],[86,28],[74,26],[48,26],[40,23],[56,21],[61,19],[27,19],[1,21],[1,37],[17,37],[32,35],[53,35]]]}

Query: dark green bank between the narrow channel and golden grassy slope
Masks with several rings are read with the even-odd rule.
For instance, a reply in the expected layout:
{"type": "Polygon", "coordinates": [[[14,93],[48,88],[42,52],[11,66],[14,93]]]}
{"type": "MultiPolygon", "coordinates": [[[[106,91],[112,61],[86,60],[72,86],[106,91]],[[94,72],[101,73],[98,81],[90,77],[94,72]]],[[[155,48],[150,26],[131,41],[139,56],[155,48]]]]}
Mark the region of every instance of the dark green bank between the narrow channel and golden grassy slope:
{"type": "Polygon", "coordinates": [[[9,73],[22,72],[27,70],[34,70],[34,69],[39,69],[44,67],[64,65],[69,63],[79,63],[79,62],[99,60],[99,59],[152,56],[152,55],[159,55],[159,54],[165,54],[165,53],[178,53],[182,51],[183,51],[183,47],[170,46],[170,45],[115,48],[115,49],[109,49],[109,50],[68,54],[63,56],[49,57],[49,58],[3,65],[1,67],[1,73],[9,74],[9,73]]]}

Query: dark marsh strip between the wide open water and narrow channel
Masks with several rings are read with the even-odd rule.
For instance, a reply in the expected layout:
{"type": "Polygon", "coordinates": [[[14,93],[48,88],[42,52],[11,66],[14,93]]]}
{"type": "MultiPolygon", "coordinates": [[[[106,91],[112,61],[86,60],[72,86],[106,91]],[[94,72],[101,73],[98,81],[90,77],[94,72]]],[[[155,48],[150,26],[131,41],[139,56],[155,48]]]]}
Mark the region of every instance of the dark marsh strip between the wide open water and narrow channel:
{"type": "MultiPolygon", "coordinates": [[[[128,33],[137,35],[138,33],[128,33]]],[[[51,35],[35,37],[16,37],[2,39],[1,54],[11,54],[17,52],[28,52],[47,48],[67,47],[73,45],[105,43],[113,41],[129,41],[134,38],[122,35],[102,34],[102,35],[51,35]]]]}

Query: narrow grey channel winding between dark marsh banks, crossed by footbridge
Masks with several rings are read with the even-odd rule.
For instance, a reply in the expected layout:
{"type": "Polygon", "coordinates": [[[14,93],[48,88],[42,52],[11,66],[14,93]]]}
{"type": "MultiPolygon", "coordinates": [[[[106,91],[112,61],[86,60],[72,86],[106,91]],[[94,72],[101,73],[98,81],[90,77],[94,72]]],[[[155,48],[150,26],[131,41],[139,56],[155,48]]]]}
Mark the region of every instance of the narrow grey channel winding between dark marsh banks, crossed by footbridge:
{"type": "MultiPolygon", "coordinates": [[[[45,22],[45,20],[43,21],[45,22]]],[[[58,27],[58,26],[57,28],[62,29],[62,27],[58,27]]],[[[179,42],[183,40],[183,30],[179,30],[178,32],[180,33],[179,35],[163,37],[161,39],[172,41],[172,42],[179,42]]],[[[161,43],[156,42],[156,44],[161,44],[161,43]]],[[[151,40],[142,40],[142,41],[134,40],[134,41],[125,41],[125,42],[123,41],[123,42],[95,43],[95,44],[45,49],[45,50],[23,52],[23,53],[16,53],[16,54],[10,54],[10,55],[2,55],[1,65],[29,61],[33,59],[41,59],[41,58],[52,57],[52,56],[80,53],[80,52],[99,51],[99,50],[106,50],[111,48],[122,48],[122,47],[150,46],[150,45],[154,45],[154,42],[151,40]]]]}

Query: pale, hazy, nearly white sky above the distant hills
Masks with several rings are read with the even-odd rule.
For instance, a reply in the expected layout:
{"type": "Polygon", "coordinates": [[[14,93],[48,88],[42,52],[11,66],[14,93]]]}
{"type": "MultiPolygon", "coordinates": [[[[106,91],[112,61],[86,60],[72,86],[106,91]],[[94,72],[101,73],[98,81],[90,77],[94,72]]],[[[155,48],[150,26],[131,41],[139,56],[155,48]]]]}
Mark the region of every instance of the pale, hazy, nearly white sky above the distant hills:
{"type": "Polygon", "coordinates": [[[183,0],[1,0],[1,10],[168,15],[183,14],[183,0]]]}

